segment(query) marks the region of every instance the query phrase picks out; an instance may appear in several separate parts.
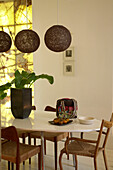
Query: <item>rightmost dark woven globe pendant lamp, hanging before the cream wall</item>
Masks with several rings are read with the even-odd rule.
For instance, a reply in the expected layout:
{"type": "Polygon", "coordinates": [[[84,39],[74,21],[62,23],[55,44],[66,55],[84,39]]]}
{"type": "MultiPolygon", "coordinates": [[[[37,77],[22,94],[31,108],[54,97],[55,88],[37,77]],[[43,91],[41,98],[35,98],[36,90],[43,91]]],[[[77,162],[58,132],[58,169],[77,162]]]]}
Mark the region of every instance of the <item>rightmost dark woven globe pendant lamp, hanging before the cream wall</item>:
{"type": "Polygon", "coordinates": [[[54,25],[45,33],[45,44],[54,52],[65,51],[71,44],[70,31],[62,25],[54,25]]]}

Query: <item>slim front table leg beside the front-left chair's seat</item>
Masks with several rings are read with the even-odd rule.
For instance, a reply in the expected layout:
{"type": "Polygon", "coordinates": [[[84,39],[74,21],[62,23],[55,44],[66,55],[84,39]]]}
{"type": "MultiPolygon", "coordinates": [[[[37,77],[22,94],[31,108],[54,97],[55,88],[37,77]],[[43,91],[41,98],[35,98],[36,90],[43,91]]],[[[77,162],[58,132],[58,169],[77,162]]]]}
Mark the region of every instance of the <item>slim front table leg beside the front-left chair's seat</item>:
{"type": "Polygon", "coordinates": [[[45,161],[44,161],[44,132],[41,132],[41,170],[45,170],[45,161]]]}

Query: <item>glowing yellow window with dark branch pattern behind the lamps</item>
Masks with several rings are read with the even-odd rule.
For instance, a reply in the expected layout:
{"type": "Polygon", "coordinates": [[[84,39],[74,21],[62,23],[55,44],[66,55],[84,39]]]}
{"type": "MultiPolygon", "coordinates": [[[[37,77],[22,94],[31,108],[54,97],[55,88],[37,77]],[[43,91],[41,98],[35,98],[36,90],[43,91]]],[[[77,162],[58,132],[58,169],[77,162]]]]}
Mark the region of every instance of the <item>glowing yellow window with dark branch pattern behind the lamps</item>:
{"type": "MultiPolygon", "coordinates": [[[[0,31],[7,32],[12,39],[11,49],[0,53],[0,84],[12,79],[16,69],[33,70],[33,54],[21,53],[14,45],[16,34],[23,29],[32,29],[32,1],[0,1],[0,31]]],[[[10,96],[1,105],[2,111],[10,107],[10,96]]]]}

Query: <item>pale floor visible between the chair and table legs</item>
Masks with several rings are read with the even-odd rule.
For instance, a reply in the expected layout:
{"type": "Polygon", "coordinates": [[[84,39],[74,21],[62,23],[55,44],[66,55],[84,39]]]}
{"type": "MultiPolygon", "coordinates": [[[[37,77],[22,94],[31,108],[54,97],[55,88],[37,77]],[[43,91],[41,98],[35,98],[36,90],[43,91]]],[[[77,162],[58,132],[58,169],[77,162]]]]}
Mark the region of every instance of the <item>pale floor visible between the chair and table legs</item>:
{"type": "MultiPolygon", "coordinates": [[[[38,144],[40,144],[40,142],[38,144]]],[[[58,143],[58,153],[60,153],[60,150],[63,148],[63,146],[64,146],[64,142],[58,143]]],[[[107,155],[109,170],[113,170],[113,148],[107,147],[106,155],[107,155]]],[[[29,162],[26,161],[25,166],[21,164],[20,170],[37,170],[38,167],[37,161],[38,161],[37,156],[33,157],[31,166],[29,166],[29,162]]],[[[66,155],[64,155],[62,163],[63,163],[64,170],[74,170],[72,155],[70,155],[69,160],[67,160],[66,155]]],[[[102,153],[98,155],[97,163],[98,163],[98,170],[105,170],[102,153]]],[[[2,160],[1,170],[7,170],[7,161],[2,160]]],[[[54,170],[54,145],[52,142],[47,142],[47,155],[45,155],[45,170],[54,170]]],[[[59,163],[58,163],[58,170],[59,170],[59,163]]],[[[93,159],[78,156],[78,170],[94,170],[93,159]]]]}

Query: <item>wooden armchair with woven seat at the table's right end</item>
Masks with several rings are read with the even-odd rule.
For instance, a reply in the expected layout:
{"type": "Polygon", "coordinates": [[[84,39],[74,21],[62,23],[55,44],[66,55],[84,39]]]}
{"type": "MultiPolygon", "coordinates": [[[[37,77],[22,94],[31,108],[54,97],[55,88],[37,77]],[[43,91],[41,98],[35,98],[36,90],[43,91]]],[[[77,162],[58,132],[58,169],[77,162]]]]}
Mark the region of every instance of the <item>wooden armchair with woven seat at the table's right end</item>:
{"type": "MultiPolygon", "coordinates": [[[[112,114],[112,120],[113,120],[113,114],[112,114]]],[[[60,152],[60,156],[59,156],[60,170],[63,170],[62,164],[61,164],[61,159],[62,159],[62,155],[64,153],[75,155],[75,163],[76,163],[75,169],[76,170],[78,169],[77,155],[88,156],[88,157],[94,158],[94,168],[95,168],[95,170],[97,170],[96,160],[97,160],[97,155],[100,151],[103,152],[105,167],[106,167],[106,170],[108,170],[106,155],[105,155],[105,146],[106,146],[106,142],[108,139],[108,134],[109,134],[110,128],[112,126],[113,126],[113,122],[102,120],[97,140],[87,140],[87,139],[80,139],[80,138],[74,138],[74,137],[69,138],[65,142],[65,147],[60,152]],[[100,140],[101,140],[101,136],[103,134],[102,132],[103,132],[104,127],[106,127],[107,130],[104,133],[104,135],[105,135],[104,141],[103,141],[102,146],[100,147],[100,140]]]]}

